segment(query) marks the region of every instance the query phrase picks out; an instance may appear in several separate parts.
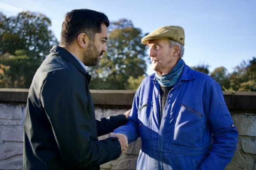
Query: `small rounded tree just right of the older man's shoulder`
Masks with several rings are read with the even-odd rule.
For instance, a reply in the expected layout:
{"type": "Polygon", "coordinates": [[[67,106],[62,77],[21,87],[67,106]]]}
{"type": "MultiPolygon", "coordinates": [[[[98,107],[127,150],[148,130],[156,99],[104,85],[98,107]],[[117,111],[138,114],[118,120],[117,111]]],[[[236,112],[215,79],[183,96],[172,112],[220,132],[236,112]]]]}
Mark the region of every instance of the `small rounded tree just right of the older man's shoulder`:
{"type": "Polygon", "coordinates": [[[229,74],[225,67],[215,68],[214,71],[211,72],[211,77],[220,84],[222,90],[230,88],[229,74]]]}

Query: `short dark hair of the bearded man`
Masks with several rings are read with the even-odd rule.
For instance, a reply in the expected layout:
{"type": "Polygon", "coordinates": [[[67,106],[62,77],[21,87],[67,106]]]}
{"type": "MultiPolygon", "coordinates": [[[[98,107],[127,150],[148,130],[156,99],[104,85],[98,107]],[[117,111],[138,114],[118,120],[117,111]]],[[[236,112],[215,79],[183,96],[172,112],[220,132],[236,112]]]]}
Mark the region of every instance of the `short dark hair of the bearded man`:
{"type": "Polygon", "coordinates": [[[94,40],[96,33],[101,32],[101,24],[109,26],[109,19],[102,12],[90,9],[74,9],[65,16],[61,28],[62,46],[68,46],[77,36],[84,32],[90,40],[94,40]]]}

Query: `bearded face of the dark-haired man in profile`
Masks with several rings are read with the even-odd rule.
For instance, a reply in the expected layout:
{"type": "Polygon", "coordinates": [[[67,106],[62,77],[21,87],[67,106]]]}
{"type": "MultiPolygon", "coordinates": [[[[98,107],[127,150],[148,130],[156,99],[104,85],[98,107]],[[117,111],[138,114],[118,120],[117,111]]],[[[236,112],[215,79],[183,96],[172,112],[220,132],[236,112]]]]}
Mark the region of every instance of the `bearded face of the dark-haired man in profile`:
{"type": "Polygon", "coordinates": [[[101,32],[95,34],[94,41],[89,42],[88,48],[83,53],[83,63],[86,66],[95,66],[99,63],[103,52],[107,51],[106,40],[107,27],[103,23],[101,24],[101,32]]]}

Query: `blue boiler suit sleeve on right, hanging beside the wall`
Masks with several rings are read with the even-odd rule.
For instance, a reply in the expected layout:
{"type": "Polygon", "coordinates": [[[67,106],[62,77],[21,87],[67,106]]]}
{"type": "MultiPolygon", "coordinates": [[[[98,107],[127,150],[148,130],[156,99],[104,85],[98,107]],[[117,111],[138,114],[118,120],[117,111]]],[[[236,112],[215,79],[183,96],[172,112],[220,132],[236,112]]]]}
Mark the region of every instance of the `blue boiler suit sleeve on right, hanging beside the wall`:
{"type": "Polygon", "coordinates": [[[238,132],[224,101],[220,85],[214,82],[204,104],[213,143],[199,170],[223,170],[237,148],[238,132]]]}

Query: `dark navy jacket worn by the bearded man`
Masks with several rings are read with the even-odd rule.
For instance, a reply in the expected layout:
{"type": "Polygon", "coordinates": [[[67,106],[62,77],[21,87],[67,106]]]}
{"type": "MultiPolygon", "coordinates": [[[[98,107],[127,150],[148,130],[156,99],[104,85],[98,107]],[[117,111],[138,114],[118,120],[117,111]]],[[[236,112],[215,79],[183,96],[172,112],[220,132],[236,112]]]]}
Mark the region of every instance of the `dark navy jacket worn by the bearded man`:
{"type": "Polygon", "coordinates": [[[90,79],[71,53],[52,48],[29,89],[23,170],[99,170],[121,154],[117,138],[98,136],[124,125],[126,117],[95,119],[90,79]]]}

